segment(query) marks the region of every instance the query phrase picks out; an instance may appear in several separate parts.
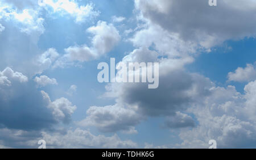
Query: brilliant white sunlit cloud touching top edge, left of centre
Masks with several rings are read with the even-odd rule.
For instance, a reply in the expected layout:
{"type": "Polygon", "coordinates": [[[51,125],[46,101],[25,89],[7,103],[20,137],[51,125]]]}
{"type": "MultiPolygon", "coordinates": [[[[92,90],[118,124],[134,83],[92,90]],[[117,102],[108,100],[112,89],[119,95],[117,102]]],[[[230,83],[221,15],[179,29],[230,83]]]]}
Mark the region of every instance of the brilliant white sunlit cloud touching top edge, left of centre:
{"type": "Polygon", "coordinates": [[[59,12],[60,14],[69,14],[75,18],[75,22],[81,23],[90,20],[100,14],[99,11],[94,11],[92,3],[86,6],[79,6],[77,2],[71,0],[41,0],[39,5],[45,7],[49,12],[59,12]]]}

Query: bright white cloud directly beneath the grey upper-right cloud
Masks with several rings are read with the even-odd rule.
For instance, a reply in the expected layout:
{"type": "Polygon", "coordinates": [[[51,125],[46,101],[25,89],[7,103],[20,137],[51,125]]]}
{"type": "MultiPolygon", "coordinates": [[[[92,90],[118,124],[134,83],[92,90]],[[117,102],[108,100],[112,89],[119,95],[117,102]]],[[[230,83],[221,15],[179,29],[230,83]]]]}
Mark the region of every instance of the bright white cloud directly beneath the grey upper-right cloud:
{"type": "Polygon", "coordinates": [[[188,57],[199,49],[198,44],[184,41],[177,33],[170,33],[147,21],[129,40],[135,47],[152,47],[158,51],[159,56],[168,56],[168,58],[188,57]]]}

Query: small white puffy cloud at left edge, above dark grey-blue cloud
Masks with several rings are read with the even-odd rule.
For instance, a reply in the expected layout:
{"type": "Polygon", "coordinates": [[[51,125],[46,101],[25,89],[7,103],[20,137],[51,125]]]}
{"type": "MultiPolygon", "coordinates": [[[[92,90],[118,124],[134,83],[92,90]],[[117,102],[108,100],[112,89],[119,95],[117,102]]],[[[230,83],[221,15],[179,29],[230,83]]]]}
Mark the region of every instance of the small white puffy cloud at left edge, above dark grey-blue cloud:
{"type": "Polygon", "coordinates": [[[5,70],[0,72],[0,85],[10,86],[11,81],[19,81],[24,83],[28,81],[26,75],[19,72],[14,72],[13,69],[7,67],[5,70]]]}

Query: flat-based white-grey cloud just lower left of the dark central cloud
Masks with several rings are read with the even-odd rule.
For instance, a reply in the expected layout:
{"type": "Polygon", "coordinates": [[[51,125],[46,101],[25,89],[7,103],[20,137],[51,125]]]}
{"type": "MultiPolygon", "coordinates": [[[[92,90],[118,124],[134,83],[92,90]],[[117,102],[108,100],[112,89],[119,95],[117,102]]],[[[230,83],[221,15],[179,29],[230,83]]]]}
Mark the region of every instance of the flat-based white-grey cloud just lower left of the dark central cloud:
{"type": "Polygon", "coordinates": [[[105,107],[90,107],[86,111],[86,119],[78,124],[97,127],[101,132],[117,132],[122,130],[123,133],[137,133],[134,125],[138,124],[143,116],[137,113],[134,107],[125,107],[122,104],[105,107]]]}

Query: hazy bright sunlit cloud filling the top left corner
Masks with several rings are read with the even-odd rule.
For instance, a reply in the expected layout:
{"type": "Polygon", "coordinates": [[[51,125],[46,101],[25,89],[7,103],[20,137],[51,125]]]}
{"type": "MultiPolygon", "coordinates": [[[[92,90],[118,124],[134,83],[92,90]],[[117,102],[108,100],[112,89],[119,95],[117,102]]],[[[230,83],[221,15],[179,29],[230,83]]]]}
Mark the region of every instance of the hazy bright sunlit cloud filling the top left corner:
{"type": "MultiPolygon", "coordinates": [[[[13,28],[25,33],[32,41],[38,41],[44,33],[44,19],[35,1],[18,2],[15,0],[0,2],[0,20],[6,27],[6,34],[13,28]],[[27,6],[26,6],[27,5],[27,6]]],[[[15,32],[14,32],[15,33],[15,32]]],[[[15,35],[18,37],[18,35],[15,35]]]]}

